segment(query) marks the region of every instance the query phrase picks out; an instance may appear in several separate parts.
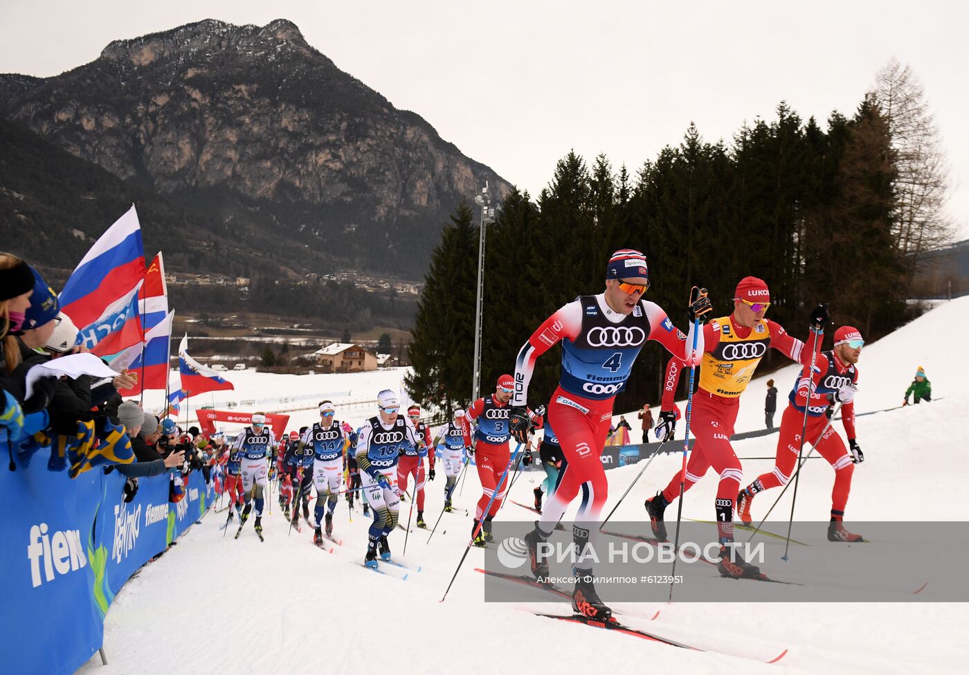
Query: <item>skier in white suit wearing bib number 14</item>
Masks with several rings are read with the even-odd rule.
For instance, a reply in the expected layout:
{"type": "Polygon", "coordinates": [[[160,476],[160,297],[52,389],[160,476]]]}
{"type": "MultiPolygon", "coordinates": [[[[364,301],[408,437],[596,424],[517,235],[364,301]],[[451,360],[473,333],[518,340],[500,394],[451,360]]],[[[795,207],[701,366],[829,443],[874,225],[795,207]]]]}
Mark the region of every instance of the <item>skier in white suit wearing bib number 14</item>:
{"type": "Polygon", "coordinates": [[[343,426],[333,419],[336,408],[332,402],[320,402],[320,421],[306,430],[299,443],[300,450],[308,447],[314,455],[312,479],[316,486],[316,531],[313,542],[323,543],[321,523],[326,521],[327,536],[333,534],[333,511],[336,509],[337,493],[343,483],[343,468],[346,466],[347,434],[343,426]]]}

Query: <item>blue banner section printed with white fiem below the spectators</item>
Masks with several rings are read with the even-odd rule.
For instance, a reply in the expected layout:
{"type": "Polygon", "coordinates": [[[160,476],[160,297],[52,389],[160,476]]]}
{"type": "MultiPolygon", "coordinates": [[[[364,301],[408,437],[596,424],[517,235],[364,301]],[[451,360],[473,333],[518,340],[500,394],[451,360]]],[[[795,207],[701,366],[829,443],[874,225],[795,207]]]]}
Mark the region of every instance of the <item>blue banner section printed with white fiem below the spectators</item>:
{"type": "Polygon", "coordinates": [[[0,471],[0,672],[73,673],[98,651],[92,531],[100,470],[74,480],[47,470],[47,453],[0,471]]]}

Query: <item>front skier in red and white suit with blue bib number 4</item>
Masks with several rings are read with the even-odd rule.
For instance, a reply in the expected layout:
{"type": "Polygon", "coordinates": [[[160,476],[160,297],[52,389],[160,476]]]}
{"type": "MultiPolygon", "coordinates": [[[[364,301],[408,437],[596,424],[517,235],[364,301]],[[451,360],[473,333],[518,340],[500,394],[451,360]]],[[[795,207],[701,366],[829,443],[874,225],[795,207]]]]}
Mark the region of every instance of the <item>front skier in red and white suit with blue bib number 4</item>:
{"type": "MultiPolygon", "coordinates": [[[[575,569],[572,606],[578,613],[595,619],[608,619],[611,610],[596,594],[592,565],[583,554],[586,545],[594,544],[598,538],[606,503],[606,470],[600,456],[610,428],[612,400],[625,387],[633,362],[647,339],[660,342],[679,359],[689,362],[694,358],[692,325],[690,337],[677,331],[659,305],[642,299],[647,288],[645,256],[629,248],[617,250],[606,268],[606,291],[579,296],[555,311],[521,347],[515,365],[510,423],[516,440],[525,442],[525,402],[535,362],[562,340],[562,374],[548,403],[548,419],[555,428],[566,466],[554,496],[535,523],[535,530],[525,535],[525,542],[532,573],[539,579],[547,577],[548,565],[540,557],[538,544],[547,539],[582,489],[582,504],[573,528],[580,564],[575,569]]],[[[710,310],[705,291],[698,289],[691,294],[689,308],[691,317],[710,310]]],[[[697,344],[699,354],[702,337],[698,336],[697,344]]]]}

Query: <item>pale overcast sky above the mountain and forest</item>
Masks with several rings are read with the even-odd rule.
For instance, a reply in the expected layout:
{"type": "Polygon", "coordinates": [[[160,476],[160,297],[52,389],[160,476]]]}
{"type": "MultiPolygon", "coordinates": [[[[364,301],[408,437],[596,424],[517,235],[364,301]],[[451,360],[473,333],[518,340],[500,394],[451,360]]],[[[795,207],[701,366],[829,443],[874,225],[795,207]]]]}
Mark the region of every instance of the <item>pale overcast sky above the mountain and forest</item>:
{"type": "Polygon", "coordinates": [[[851,114],[894,56],[922,80],[969,237],[969,9],[957,2],[0,0],[0,72],[47,77],[112,40],[200,20],[294,21],[307,42],[536,195],[571,148],[635,171],[697,123],[730,140],[781,100],[851,114]],[[689,9],[687,9],[687,6],[689,9]]]}

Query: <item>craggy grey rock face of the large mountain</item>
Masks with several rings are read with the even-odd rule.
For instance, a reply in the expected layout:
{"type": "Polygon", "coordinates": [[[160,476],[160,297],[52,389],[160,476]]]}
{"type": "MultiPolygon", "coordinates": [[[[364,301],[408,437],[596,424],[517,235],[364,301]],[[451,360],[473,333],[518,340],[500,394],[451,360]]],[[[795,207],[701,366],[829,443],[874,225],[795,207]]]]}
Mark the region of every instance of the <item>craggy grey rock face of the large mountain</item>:
{"type": "Polygon", "coordinates": [[[208,19],[46,80],[0,76],[0,116],[185,209],[200,241],[297,272],[420,277],[460,199],[510,189],[283,19],[208,19]]]}

